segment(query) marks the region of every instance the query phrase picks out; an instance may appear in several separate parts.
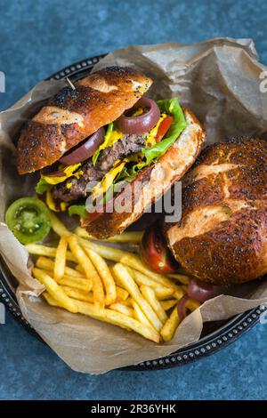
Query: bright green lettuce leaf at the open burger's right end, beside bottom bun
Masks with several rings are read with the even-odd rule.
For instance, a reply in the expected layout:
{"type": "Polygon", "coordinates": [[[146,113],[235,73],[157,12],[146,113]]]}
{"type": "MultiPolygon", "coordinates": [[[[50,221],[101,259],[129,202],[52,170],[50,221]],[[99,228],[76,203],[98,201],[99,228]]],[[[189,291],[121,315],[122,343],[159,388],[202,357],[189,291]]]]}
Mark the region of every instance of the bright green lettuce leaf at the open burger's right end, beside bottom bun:
{"type": "Polygon", "coordinates": [[[158,100],[158,108],[161,112],[174,117],[174,122],[170,126],[170,129],[162,141],[153,145],[153,147],[149,149],[142,149],[142,153],[146,158],[147,165],[149,165],[154,159],[163,156],[167,149],[169,149],[174,144],[178,136],[182,133],[187,125],[182,112],[182,108],[176,97],[170,100],[158,100]]]}

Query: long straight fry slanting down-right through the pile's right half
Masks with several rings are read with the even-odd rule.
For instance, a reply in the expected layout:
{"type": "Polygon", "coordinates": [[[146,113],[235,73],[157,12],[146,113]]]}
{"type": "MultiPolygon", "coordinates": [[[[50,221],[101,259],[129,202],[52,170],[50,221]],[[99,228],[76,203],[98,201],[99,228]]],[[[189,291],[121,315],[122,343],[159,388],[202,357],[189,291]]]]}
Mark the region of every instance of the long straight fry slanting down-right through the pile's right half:
{"type": "Polygon", "coordinates": [[[128,269],[120,263],[115,264],[112,268],[112,272],[115,274],[117,279],[120,281],[127,292],[129,292],[142,309],[145,316],[149,319],[150,323],[154,328],[159,331],[162,327],[162,322],[158,319],[158,316],[154,310],[150,307],[150,304],[143,298],[138,285],[134,282],[134,278],[130,275],[128,269]]]}

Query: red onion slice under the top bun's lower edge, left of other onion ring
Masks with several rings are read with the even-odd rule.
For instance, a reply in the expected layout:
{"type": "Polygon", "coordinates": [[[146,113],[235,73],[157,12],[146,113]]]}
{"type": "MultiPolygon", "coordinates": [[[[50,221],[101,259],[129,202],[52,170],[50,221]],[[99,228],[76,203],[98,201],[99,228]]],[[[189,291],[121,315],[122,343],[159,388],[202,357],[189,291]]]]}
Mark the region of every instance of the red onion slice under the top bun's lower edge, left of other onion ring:
{"type": "MultiPolygon", "coordinates": [[[[85,141],[80,147],[72,151],[69,155],[63,156],[60,162],[66,165],[72,165],[81,163],[87,158],[92,157],[96,149],[101,146],[104,140],[105,129],[101,127],[96,133],[93,133],[87,141],[85,141]]],[[[53,174],[54,175],[54,174],[53,174]]]]}

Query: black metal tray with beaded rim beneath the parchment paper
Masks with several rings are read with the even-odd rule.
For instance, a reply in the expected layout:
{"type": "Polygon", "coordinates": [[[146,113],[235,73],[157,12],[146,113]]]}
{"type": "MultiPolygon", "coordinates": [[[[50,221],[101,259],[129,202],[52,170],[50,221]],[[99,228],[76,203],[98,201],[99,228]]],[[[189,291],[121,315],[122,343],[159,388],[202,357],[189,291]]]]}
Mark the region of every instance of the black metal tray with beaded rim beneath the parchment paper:
{"type": "MultiPolygon", "coordinates": [[[[104,56],[105,54],[81,60],[69,67],[62,68],[57,73],[53,74],[53,76],[50,76],[49,79],[59,80],[68,76],[72,80],[77,80],[89,74],[93,65],[104,56]]],[[[12,277],[12,273],[0,258],[0,301],[4,302],[5,307],[22,326],[25,326],[29,332],[36,334],[27,320],[21,315],[20,307],[15,295],[16,286],[16,279],[12,277]]],[[[227,321],[206,323],[204,324],[203,332],[198,342],[190,344],[188,347],[178,350],[164,358],[145,361],[137,366],[125,367],[125,370],[156,370],[172,366],[182,366],[214,354],[216,351],[223,349],[223,347],[226,347],[231,342],[237,340],[241,335],[252,328],[252,326],[255,326],[265,309],[267,308],[259,307],[250,309],[227,321]]],[[[37,334],[36,337],[40,338],[37,334]]]]}

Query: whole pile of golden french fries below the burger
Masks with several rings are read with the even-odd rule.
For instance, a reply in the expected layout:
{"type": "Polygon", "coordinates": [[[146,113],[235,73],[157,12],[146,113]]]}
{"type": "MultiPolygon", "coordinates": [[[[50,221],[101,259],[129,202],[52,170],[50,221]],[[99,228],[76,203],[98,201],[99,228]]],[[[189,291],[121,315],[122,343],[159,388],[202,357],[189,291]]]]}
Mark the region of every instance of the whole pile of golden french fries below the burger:
{"type": "MultiPolygon", "coordinates": [[[[52,214],[57,247],[29,244],[35,254],[32,274],[45,287],[53,307],[80,313],[134,331],[152,342],[168,342],[180,324],[177,303],[189,277],[151,271],[139,255],[93,242],[84,229],[75,233],[52,214]]],[[[108,241],[139,243],[141,232],[124,232],[108,241]]],[[[188,299],[186,308],[197,309],[188,299]]]]}

